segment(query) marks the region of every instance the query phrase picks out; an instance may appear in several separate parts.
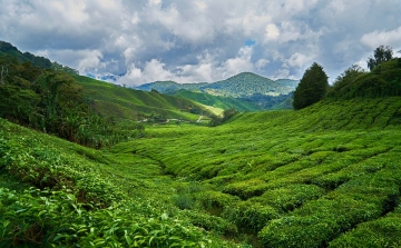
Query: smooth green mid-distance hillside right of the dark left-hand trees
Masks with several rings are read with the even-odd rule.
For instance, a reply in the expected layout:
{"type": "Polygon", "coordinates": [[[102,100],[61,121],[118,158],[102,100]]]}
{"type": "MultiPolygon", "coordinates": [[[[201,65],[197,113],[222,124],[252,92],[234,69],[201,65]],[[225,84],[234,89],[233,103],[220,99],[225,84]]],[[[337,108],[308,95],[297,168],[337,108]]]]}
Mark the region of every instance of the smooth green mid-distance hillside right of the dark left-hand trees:
{"type": "Polygon", "coordinates": [[[115,86],[84,76],[75,76],[95,109],[105,117],[141,120],[150,116],[162,119],[197,120],[203,108],[195,102],[115,86]]]}

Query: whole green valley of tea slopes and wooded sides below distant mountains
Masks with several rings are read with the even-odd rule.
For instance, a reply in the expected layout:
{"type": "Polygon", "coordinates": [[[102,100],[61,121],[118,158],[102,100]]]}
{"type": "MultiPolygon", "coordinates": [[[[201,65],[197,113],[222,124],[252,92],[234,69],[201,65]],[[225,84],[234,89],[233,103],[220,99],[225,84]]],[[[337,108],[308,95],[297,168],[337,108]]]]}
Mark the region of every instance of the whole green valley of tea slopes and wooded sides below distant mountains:
{"type": "Polygon", "coordinates": [[[401,59],[255,111],[0,44],[0,247],[401,246],[401,59]]]}

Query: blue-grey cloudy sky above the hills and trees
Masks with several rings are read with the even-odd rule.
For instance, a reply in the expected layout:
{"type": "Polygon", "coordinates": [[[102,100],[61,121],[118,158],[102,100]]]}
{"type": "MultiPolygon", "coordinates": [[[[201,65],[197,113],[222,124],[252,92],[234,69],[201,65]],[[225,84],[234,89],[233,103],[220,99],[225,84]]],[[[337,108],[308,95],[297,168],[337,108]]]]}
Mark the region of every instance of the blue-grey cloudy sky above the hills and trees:
{"type": "Polygon", "coordinates": [[[0,40],[117,83],[202,82],[243,71],[333,81],[401,50],[400,0],[0,0],[0,40]]]}

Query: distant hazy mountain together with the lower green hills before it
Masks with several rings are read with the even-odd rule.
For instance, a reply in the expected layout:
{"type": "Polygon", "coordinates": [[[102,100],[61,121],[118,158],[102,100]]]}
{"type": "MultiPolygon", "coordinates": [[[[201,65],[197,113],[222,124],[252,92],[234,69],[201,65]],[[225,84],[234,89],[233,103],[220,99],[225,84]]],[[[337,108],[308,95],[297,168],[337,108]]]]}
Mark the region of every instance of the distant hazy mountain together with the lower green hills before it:
{"type": "Polygon", "coordinates": [[[235,108],[238,111],[257,111],[291,109],[291,93],[295,90],[297,82],[291,79],[273,81],[255,73],[243,72],[213,83],[157,81],[139,86],[136,89],[144,91],[154,89],[223,109],[235,108]]]}

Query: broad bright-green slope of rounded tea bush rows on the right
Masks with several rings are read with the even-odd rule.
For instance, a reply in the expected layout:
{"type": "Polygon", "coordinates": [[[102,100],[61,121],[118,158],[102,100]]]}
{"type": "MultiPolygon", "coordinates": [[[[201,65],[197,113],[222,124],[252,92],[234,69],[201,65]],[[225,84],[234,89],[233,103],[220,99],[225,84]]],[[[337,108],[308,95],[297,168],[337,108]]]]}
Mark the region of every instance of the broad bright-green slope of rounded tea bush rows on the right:
{"type": "Polygon", "coordinates": [[[153,130],[155,138],[113,150],[202,181],[199,191],[177,191],[176,205],[257,235],[255,247],[399,246],[400,109],[394,97],[242,113],[214,129],[153,130]],[[387,226],[395,228],[392,235],[387,226]]]}

